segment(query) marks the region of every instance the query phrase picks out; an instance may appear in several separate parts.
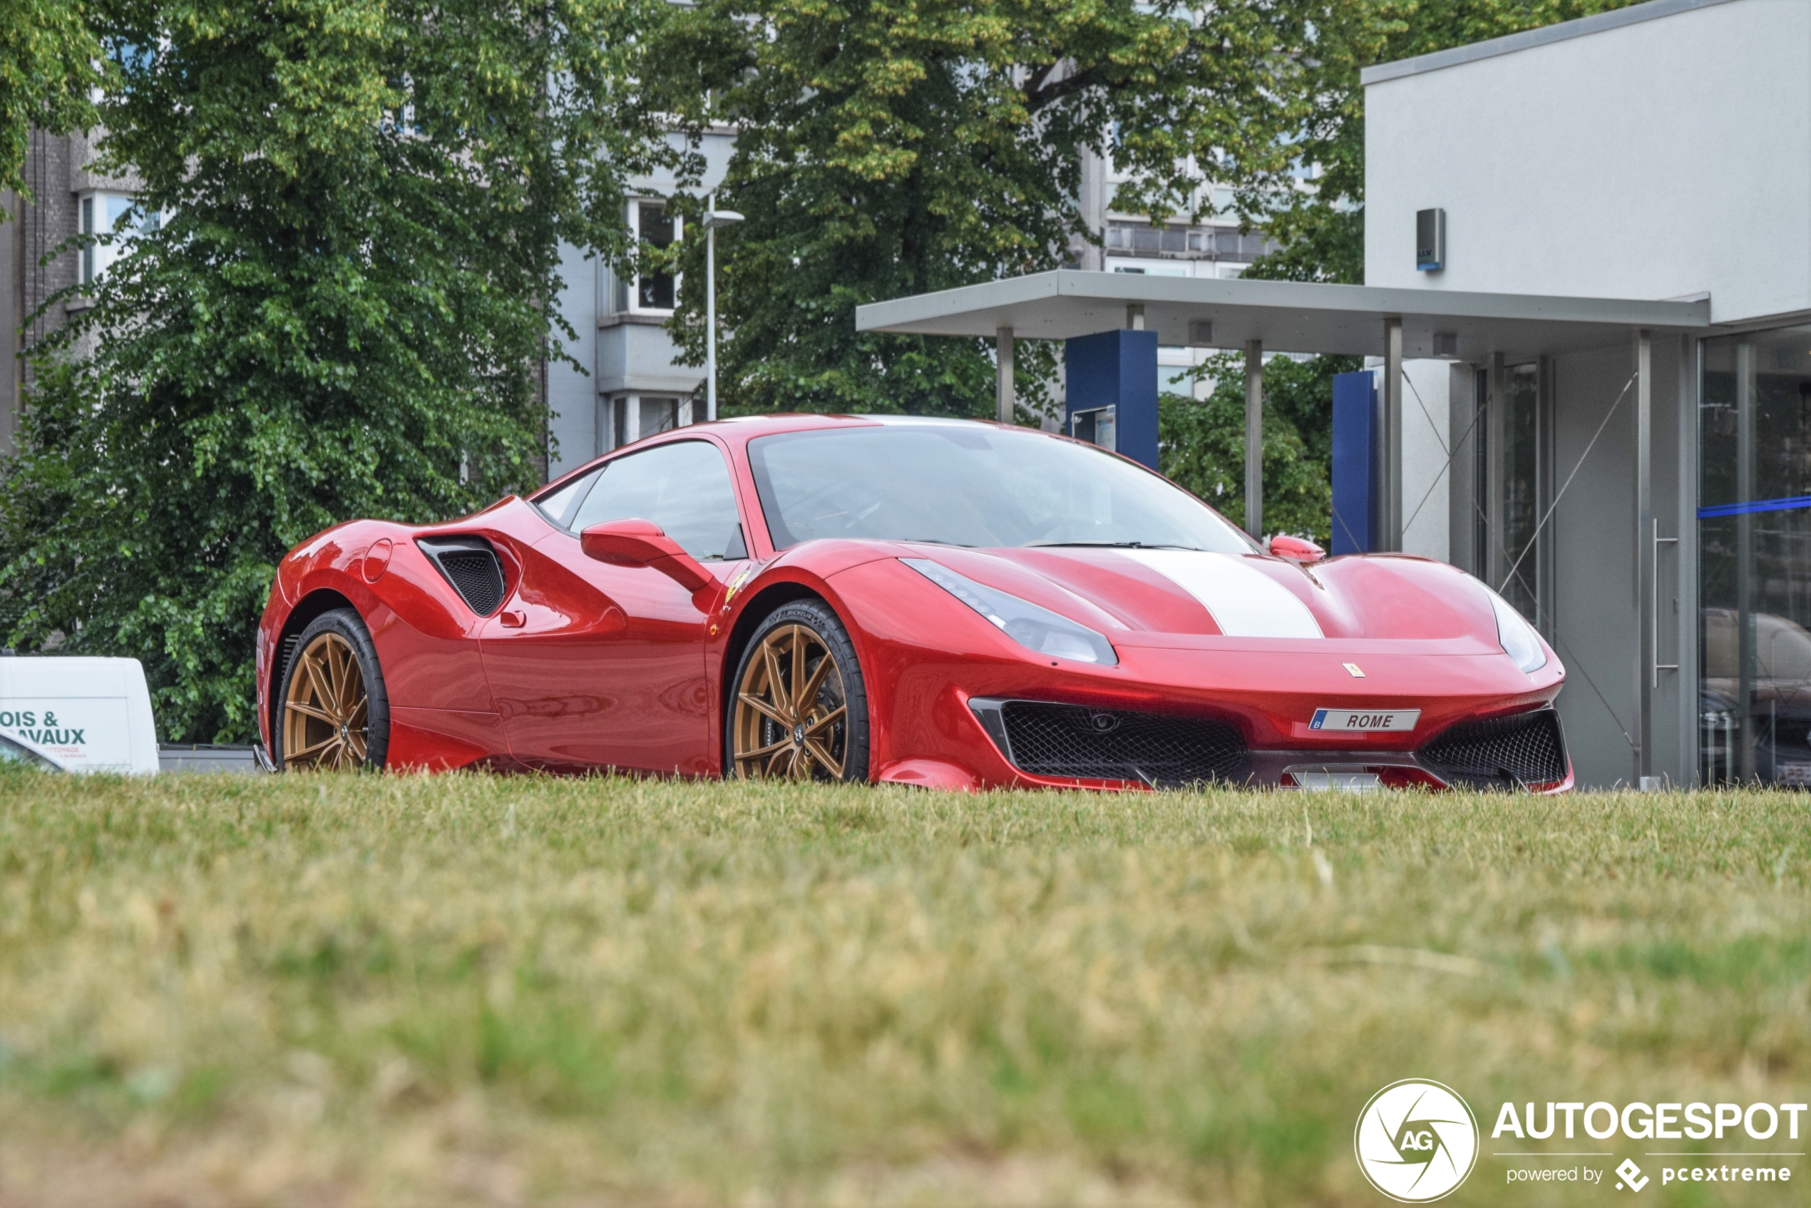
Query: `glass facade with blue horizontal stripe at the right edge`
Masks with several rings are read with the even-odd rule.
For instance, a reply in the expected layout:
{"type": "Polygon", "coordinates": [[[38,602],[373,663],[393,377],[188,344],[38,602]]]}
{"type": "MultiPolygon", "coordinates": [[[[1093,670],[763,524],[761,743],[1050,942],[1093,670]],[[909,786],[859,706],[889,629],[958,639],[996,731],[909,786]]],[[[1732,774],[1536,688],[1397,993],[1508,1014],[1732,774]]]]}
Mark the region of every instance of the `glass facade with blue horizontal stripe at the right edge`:
{"type": "Polygon", "coordinates": [[[1811,326],[1699,371],[1701,773],[1811,786],[1811,326]]]}

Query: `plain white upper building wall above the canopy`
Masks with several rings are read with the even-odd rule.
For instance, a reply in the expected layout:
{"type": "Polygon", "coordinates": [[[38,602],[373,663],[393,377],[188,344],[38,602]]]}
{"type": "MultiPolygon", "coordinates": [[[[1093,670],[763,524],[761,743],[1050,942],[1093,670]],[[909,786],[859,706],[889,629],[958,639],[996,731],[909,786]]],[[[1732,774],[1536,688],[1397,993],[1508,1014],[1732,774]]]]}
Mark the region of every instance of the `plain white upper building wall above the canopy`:
{"type": "Polygon", "coordinates": [[[1365,284],[1811,308],[1811,4],[1652,0],[1420,62],[1454,56],[1365,72],[1365,284]],[[1447,268],[1418,273],[1429,206],[1447,268]]]}

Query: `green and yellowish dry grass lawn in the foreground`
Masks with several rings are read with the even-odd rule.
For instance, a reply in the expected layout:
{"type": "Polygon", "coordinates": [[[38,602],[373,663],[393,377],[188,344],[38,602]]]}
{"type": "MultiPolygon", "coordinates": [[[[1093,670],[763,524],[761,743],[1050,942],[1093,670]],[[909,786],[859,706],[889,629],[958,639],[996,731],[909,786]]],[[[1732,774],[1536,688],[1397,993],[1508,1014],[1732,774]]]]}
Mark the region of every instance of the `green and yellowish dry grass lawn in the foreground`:
{"type": "Polygon", "coordinates": [[[0,775],[0,1203],[1601,1199],[1498,1105],[1811,1092],[1807,808],[0,775]]]}

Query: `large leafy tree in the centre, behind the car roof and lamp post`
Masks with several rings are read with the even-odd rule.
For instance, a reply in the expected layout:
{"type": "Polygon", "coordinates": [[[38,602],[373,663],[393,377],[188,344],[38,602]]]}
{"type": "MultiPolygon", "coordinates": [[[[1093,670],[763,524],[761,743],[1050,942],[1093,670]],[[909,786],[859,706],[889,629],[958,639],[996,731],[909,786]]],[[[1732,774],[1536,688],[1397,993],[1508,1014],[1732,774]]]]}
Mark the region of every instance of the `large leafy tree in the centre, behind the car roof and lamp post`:
{"type": "MultiPolygon", "coordinates": [[[[1078,239],[1079,152],[1183,206],[1199,179],[1273,179],[1300,118],[1300,4],[701,0],[659,38],[665,107],[730,123],[719,205],[726,411],[991,413],[985,344],[858,335],[862,302],[1056,268],[1078,239]],[[1190,159],[1193,156],[1195,159],[1190,159]]],[[[697,210],[697,199],[690,208],[697,210]]],[[[674,328],[703,362],[703,241],[674,328]]],[[[1027,346],[1029,400],[1050,350],[1027,346]]]]}

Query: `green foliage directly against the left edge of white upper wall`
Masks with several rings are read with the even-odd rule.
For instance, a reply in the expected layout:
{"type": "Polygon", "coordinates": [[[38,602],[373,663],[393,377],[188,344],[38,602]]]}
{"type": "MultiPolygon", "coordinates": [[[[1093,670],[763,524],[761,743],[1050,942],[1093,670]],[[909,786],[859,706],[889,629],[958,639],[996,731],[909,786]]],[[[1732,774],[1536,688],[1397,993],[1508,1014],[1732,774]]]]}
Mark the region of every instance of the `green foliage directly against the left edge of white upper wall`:
{"type": "Polygon", "coordinates": [[[1358,72],[1637,0],[1322,0],[1293,132],[1309,188],[1244,190],[1241,214],[1282,243],[1248,277],[1364,284],[1364,89],[1358,72]]]}

